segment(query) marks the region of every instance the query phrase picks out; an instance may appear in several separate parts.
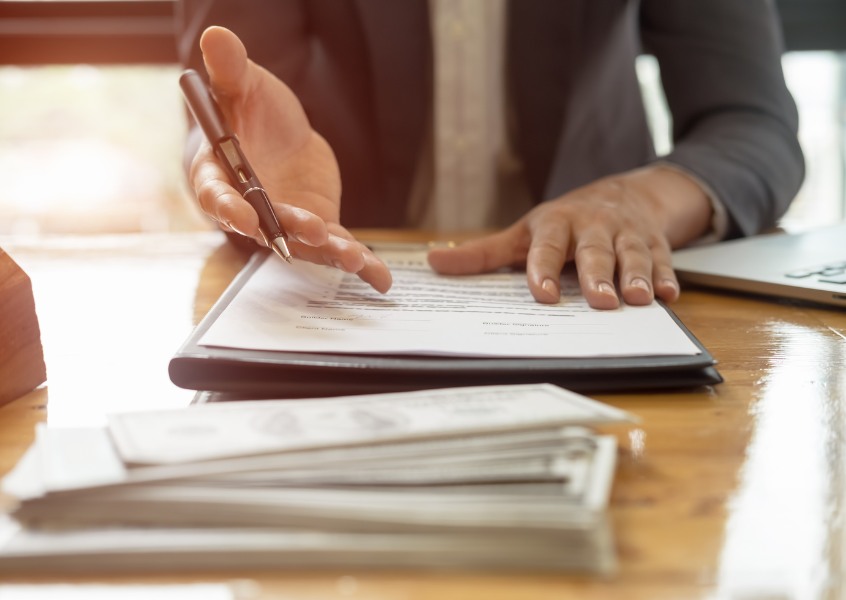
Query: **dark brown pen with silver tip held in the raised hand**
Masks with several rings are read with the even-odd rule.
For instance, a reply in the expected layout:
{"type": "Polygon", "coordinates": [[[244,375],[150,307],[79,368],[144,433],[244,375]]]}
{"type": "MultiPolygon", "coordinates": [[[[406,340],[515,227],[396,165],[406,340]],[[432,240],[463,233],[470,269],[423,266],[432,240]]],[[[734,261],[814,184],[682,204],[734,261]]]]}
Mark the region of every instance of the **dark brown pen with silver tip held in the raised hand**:
{"type": "Polygon", "coordinates": [[[276,219],[270,198],[241,151],[238,138],[226,125],[223,113],[206,83],[197,71],[188,69],[179,77],[179,87],[182,88],[188,108],[212,145],[215,156],[223,163],[232,185],[258,213],[259,233],[265,244],[281,258],[292,262],[285,243],[288,236],[276,219]]]}

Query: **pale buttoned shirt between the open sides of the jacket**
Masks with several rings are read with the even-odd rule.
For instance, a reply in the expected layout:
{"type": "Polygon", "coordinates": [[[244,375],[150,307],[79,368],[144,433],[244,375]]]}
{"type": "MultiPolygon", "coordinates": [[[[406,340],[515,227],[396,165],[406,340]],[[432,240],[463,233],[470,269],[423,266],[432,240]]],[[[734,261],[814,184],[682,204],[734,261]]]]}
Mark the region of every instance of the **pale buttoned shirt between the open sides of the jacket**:
{"type": "Polygon", "coordinates": [[[510,225],[532,207],[509,143],[505,0],[430,0],[434,99],[409,225],[450,232],[510,225]]]}

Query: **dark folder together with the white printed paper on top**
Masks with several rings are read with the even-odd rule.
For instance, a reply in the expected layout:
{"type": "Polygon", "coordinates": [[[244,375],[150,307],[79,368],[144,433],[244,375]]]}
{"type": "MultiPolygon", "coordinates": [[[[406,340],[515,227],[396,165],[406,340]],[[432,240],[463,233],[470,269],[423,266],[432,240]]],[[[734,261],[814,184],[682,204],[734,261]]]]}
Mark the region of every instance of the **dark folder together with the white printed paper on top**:
{"type": "Polygon", "coordinates": [[[420,246],[377,253],[394,277],[387,295],[353,273],[256,253],[177,350],[171,380],[255,398],[518,383],[630,392],[722,381],[667,306],[593,309],[574,269],[561,275],[560,301],[542,304],[519,271],[454,277],[435,273],[420,246]]]}

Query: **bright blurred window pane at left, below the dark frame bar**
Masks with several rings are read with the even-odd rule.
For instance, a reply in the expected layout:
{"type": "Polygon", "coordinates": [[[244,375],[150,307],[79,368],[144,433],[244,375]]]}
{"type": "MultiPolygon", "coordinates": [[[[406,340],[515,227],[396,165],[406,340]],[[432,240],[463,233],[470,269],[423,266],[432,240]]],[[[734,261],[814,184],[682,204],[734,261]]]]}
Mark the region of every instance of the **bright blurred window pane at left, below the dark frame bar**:
{"type": "Polygon", "coordinates": [[[209,226],[182,169],[176,66],[0,67],[0,233],[209,226]]]}

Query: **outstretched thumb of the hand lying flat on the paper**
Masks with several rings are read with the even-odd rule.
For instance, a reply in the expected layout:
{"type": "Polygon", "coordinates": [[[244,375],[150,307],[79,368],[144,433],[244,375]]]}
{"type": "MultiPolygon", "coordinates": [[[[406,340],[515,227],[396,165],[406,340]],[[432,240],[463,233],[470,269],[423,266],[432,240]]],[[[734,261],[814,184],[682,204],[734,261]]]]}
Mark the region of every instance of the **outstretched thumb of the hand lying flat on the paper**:
{"type": "Polygon", "coordinates": [[[432,248],[429,266],[444,275],[490,273],[524,263],[527,239],[525,227],[517,224],[458,246],[432,248]]]}

